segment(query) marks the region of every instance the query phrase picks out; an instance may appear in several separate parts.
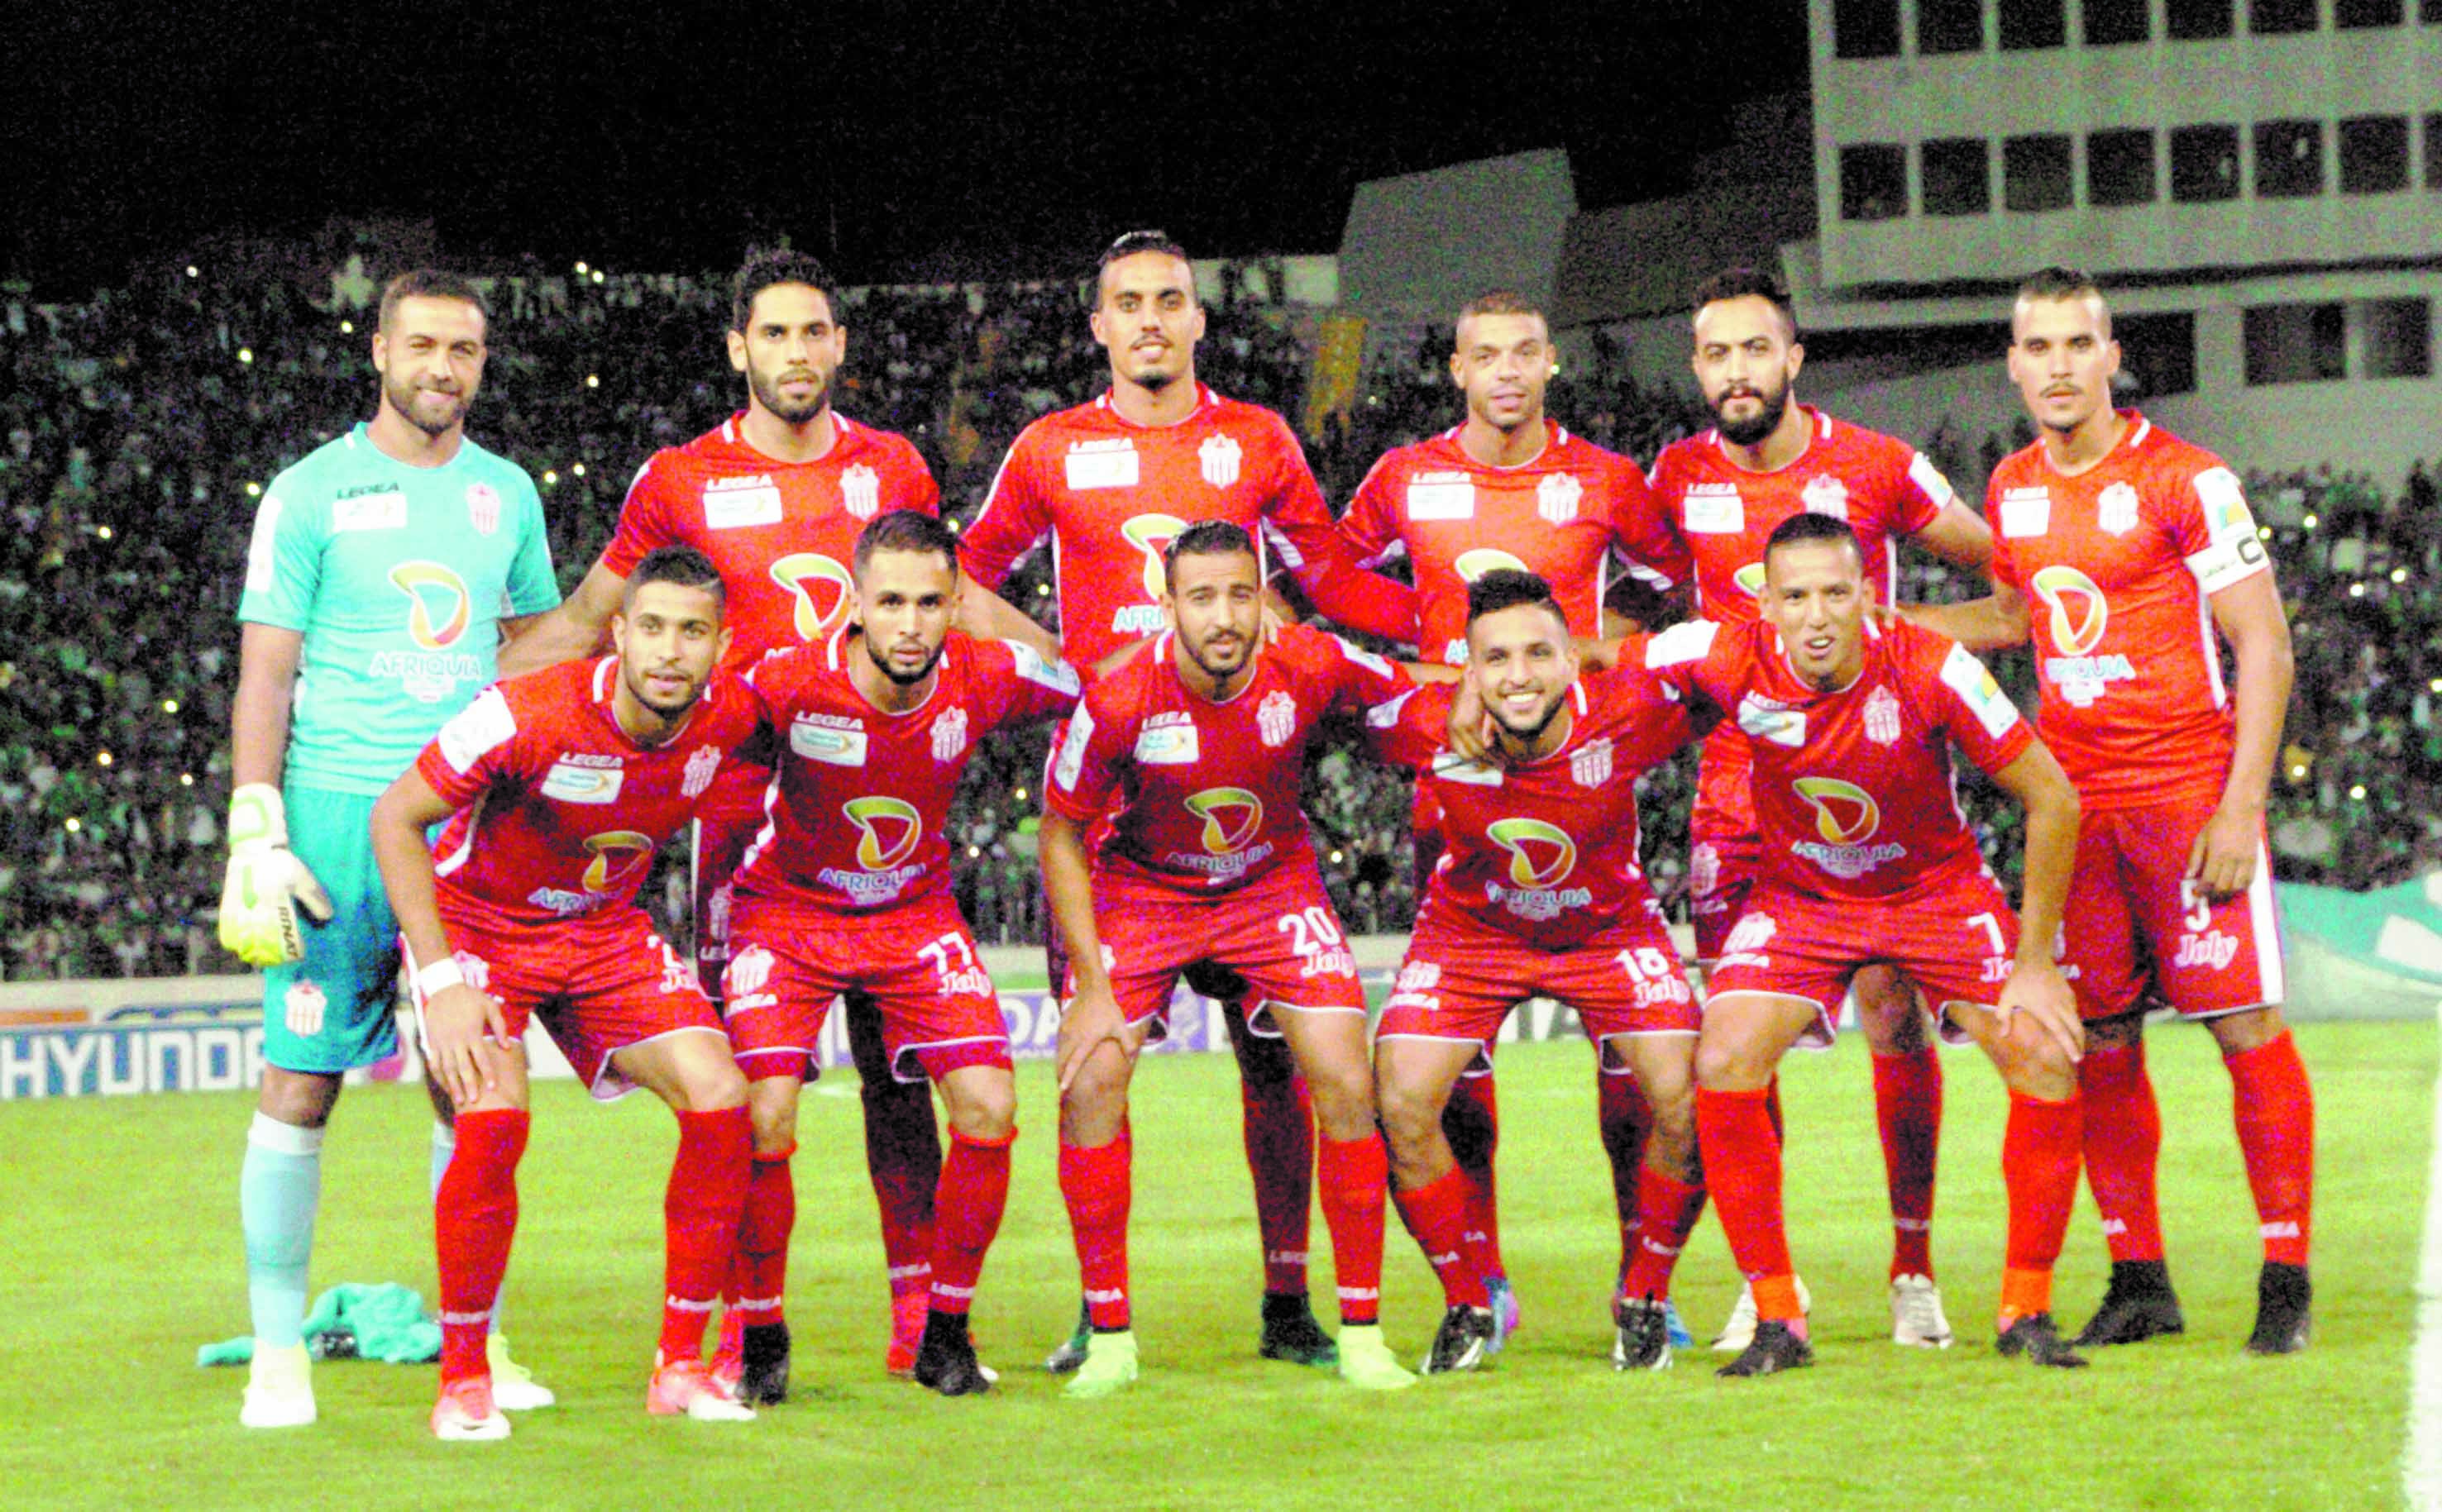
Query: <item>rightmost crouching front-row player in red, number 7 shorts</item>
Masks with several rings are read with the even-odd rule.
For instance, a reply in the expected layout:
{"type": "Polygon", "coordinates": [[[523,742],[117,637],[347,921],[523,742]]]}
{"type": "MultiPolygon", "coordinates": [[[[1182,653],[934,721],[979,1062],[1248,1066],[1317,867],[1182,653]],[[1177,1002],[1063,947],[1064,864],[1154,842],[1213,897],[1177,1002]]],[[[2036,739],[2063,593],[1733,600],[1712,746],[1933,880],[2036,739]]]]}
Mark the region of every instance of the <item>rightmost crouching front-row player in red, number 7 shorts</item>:
{"type": "Polygon", "coordinates": [[[2081,1048],[2051,960],[2078,845],[2078,796],[1973,655],[1868,623],[1856,535],[1792,515],[1763,550],[1763,618],[1692,620],[1646,664],[1751,738],[1761,882],[1707,982],[1697,1138],[1758,1326],[1722,1375],[1812,1363],[1780,1224],[1780,1138],[1766,1107],[1797,1043],[1829,1045],[1849,980],[1893,965],[1973,1038],[2010,1087],[2010,1246],[2000,1351],[2083,1365],[2051,1324],[2051,1265],[2078,1187],[2081,1048]],[[2027,926],[1951,796],[1951,745],[2027,806],[2027,926]]]}

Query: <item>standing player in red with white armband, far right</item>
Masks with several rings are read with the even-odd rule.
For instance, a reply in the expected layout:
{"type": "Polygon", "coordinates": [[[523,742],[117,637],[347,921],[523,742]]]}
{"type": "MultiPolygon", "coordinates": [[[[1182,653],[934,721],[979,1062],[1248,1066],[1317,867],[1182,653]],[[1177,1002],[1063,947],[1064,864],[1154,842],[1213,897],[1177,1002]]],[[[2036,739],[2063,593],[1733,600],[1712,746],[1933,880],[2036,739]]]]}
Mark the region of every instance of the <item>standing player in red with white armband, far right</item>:
{"type": "Polygon", "coordinates": [[[2039,440],[1993,471],[1993,598],[1922,618],[1973,647],[2034,635],[2044,740],[2085,801],[2066,960],[2093,1036],[2078,1067],[2085,1177],[2112,1282],[2078,1343],[2186,1326],[2154,1197],[2161,1111],[2142,1038],[2151,992],[2222,1048],[2264,1226],[2247,1351],[2291,1353],[2305,1348],[2313,1299],[2315,1094],[2281,1021],[2264,852],[2288,620],[2239,479],[2212,452],[2115,410],[2117,371],[2112,315],[2085,274],[2046,269],[2020,288],[2010,379],[2039,440]],[[2212,630],[2230,642],[2234,689],[2212,630]]]}

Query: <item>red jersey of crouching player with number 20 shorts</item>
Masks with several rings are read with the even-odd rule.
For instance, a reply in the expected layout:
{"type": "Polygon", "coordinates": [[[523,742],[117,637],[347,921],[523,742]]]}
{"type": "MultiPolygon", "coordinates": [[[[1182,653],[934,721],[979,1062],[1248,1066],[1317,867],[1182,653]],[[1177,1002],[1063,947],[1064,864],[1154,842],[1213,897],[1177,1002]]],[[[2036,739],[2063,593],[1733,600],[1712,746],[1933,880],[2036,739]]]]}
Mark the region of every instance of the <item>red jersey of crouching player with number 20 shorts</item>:
{"type": "MultiPolygon", "coordinates": [[[[1372,716],[1411,689],[1336,635],[1284,625],[1226,703],[1179,681],[1172,638],[1104,677],[1070,721],[1045,804],[1096,833],[1099,867],[1221,892],[1311,860],[1299,779],[1336,708],[1372,716]],[[1109,816],[1109,826],[1094,821],[1109,816]]],[[[1387,718],[1387,713],[1385,713],[1387,718]]]]}

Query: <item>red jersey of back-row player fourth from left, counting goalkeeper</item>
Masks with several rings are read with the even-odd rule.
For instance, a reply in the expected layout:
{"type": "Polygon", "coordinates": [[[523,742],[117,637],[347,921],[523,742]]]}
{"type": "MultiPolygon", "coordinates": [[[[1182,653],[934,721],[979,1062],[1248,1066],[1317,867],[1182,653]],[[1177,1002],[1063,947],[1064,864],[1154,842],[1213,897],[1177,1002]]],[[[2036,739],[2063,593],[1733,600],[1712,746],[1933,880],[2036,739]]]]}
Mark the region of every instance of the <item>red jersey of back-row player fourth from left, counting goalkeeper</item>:
{"type": "Polygon", "coordinates": [[[1543,423],[1534,462],[1490,467],[1451,427],[1385,452],[1341,515],[1360,564],[1404,554],[1416,572],[1424,630],[1416,647],[1458,667],[1468,660],[1468,584],[1495,567],[1551,584],[1573,635],[1602,635],[1602,594],[1614,569],[1668,589],[1687,552],[1663,525],[1646,474],[1560,425],[1543,423]]]}

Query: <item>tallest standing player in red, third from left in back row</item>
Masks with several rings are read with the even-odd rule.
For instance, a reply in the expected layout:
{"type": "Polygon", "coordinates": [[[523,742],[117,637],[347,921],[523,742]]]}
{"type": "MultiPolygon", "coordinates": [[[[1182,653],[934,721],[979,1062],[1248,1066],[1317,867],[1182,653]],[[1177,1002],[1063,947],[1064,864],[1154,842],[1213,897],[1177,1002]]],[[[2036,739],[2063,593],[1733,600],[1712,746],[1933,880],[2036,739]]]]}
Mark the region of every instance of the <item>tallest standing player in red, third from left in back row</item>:
{"type": "MultiPolygon", "coordinates": [[[[1094,340],[1111,359],[1111,388],[1094,403],[1045,415],[1018,432],[991,496],[962,537],[969,576],[999,589],[1050,540],[1062,647],[1096,667],[1162,628],[1162,547],[1187,520],[1228,520],[1258,540],[1267,564],[1289,569],[1316,608],[1382,635],[1414,635],[1414,596],[1360,572],[1331,528],[1297,435],[1272,410],[1197,383],[1204,305],[1194,269],[1162,232],[1131,232],[1101,254],[1094,340]]],[[[1060,936],[1045,940],[1050,980],[1065,980],[1060,936]]],[[[1289,1055],[1245,1033],[1238,984],[1199,980],[1226,999],[1245,1094],[1245,1160],[1263,1229],[1263,1353],[1328,1363],[1331,1341],[1306,1304],[1306,1221],[1314,1204],[1314,1126],[1289,1055]]],[[[1053,1353],[1053,1370],[1084,1358],[1087,1324],[1053,1353]]]]}

